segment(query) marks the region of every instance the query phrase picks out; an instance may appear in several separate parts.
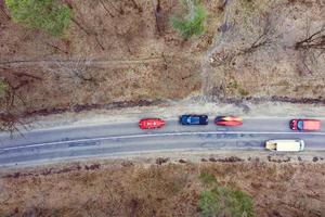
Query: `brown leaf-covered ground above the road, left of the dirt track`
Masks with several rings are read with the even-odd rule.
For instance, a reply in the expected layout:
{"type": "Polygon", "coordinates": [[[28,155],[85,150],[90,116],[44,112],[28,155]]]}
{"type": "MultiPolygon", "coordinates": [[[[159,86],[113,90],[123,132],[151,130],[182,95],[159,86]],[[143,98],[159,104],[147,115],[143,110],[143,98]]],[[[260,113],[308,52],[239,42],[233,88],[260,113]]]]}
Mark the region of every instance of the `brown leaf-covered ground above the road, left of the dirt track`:
{"type": "MultiPolygon", "coordinates": [[[[182,99],[200,90],[200,55],[218,20],[208,21],[205,36],[184,41],[169,22],[178,1],[161,1],[159,31],[151,1],[67,2],[74,22],[62,39],[0,13],[0,76],[17,95],[12,111],[182,99]]],[[[218,14],[216,3],[205,4],[218,14]]]]}

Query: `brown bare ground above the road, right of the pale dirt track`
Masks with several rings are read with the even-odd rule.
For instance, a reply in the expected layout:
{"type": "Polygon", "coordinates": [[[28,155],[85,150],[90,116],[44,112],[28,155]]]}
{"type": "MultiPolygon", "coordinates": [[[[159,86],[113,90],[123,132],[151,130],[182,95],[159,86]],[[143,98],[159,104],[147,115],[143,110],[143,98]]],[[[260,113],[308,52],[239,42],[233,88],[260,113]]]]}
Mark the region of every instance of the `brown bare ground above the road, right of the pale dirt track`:
{"type": "Polygon", "coordinates": [[[210,94],[219,98],[317,99],[325,94],[325,41],[320,49],[298,41],[323,30],[322,1],[232,1],[233,28],[209,60],[210,94]]]}

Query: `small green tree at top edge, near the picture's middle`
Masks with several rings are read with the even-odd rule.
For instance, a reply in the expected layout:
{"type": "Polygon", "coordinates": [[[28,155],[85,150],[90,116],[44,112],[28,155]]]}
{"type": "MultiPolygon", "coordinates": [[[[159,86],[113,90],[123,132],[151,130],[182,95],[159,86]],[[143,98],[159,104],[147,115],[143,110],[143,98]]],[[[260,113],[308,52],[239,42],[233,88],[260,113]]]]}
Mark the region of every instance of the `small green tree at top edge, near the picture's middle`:
{"type": "Polygon", "coordinates": [[[172,26],[182,35],[184,39],[192,36],[199,36],[205,31],[206,9],[199,0],[184,0],[183,14],[171,18],[172,26]]]}

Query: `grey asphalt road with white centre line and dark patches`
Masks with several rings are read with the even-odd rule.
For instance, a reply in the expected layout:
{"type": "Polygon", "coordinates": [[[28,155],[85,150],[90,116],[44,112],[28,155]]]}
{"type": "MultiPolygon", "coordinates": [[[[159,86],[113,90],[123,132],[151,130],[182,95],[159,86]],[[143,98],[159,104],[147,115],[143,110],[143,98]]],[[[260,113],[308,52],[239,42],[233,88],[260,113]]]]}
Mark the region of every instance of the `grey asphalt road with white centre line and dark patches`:
{"type": "Polygon", "coordinates": [[[286,118],[244,119],[240,127],[181,126],[141,130],[138,123],[112,123],[84,127],[0,135],[0,165],[36,161],[122,155],[180,150],[263,150],[269,139],[303,139],[306,151],[325,151],[324,127],[317,132],[295,132],[286,118]]]}

